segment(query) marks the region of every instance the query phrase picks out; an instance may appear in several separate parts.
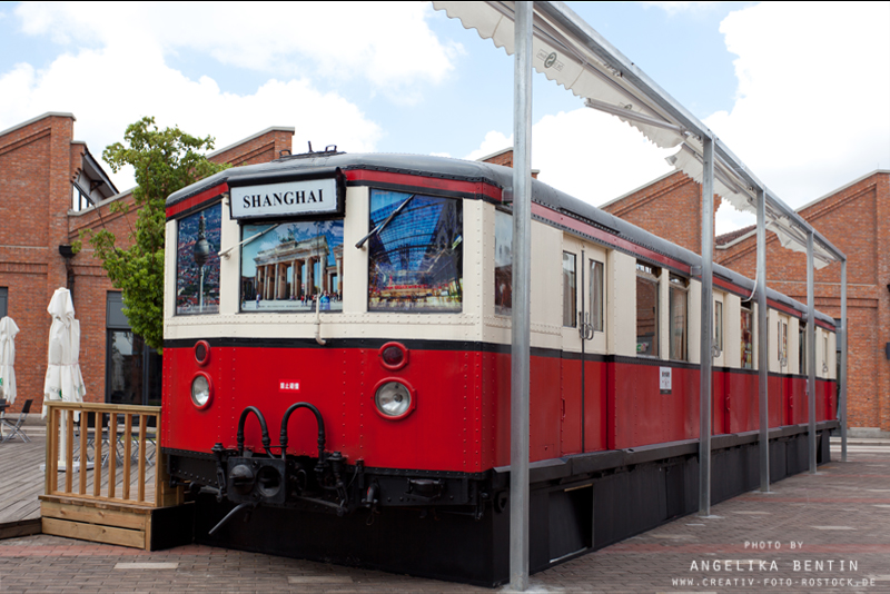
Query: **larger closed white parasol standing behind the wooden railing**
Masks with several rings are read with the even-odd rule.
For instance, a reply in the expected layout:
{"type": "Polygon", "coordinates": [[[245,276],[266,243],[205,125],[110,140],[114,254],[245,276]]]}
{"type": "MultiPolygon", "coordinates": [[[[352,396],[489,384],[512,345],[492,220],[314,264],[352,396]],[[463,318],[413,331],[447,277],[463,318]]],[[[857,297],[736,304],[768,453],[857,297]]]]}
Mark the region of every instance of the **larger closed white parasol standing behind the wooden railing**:
{"type": "MultiPolygon", "coordinates": [[[[52,316],[49,329],[47,377],[43,382],[43,400],[82,403],[87,389],[80,375],[80,321],[75,319],[75,304],[66,288],[56,289],[47,307],[52,316]]],[[[47,407],[43,406],[43,417],[47,407]]]]}

